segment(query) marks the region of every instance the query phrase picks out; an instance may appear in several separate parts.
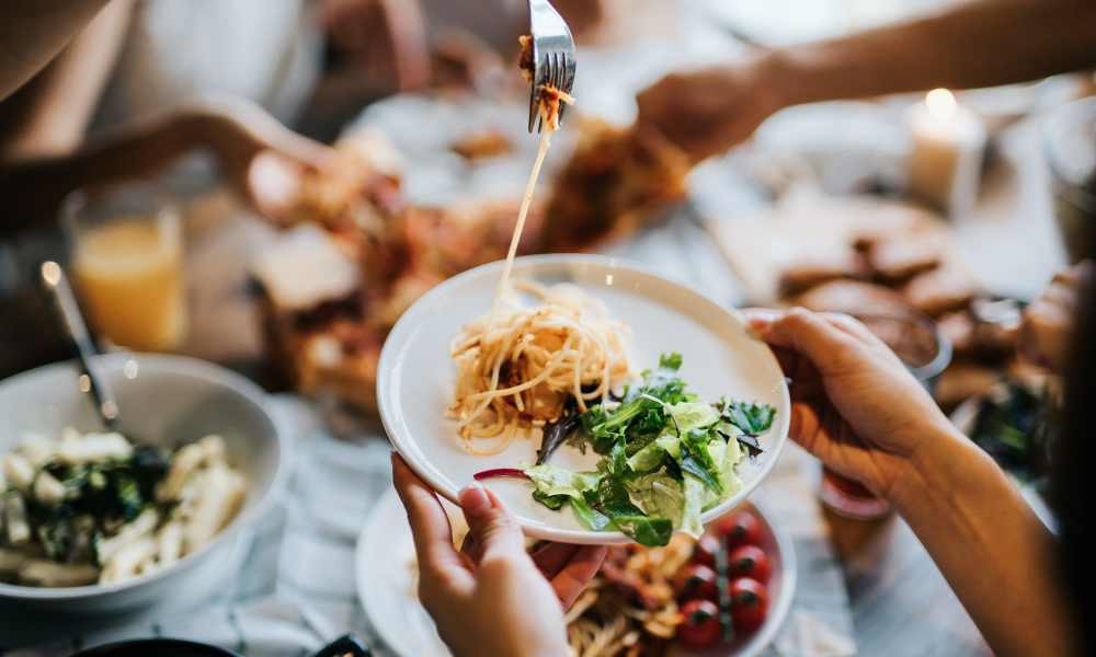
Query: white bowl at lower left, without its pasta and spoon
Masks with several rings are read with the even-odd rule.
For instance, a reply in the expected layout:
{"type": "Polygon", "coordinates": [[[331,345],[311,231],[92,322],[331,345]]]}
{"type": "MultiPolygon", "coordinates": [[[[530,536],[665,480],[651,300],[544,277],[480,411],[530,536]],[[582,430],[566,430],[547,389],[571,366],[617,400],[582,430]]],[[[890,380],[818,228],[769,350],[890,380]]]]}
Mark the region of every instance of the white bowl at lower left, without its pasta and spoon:
{"type": "MultiPolygon", "coordinates": [[[[130,610],[170,599],[184,578],[208,572],[233,535],[259,518],[286,474],[287,443],[266,407],[266,395],[247,379],[215,365],[176,356],[111,354],[100,357],[114,388],[124,427],[142,440],[175,446],[207,434],[224,437],[231,464],[248,482],[243,508],[217,538],[161,573],[129,581],[71,588],[0,584],[0,600],[65,612],[130,610]]],[[[75,364],[42,367],[0,382],[0,453],[25,433],[57,436],[67,426],[102,430],[75,364]]]]}

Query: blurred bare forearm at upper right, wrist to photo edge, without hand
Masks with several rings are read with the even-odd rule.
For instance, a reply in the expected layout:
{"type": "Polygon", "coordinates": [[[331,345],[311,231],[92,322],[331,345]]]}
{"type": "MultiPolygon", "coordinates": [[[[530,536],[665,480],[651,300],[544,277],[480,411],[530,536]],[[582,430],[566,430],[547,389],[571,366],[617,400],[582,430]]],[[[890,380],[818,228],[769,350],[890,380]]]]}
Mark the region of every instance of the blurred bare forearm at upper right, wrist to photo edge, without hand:
{"type": "Polygon", "coordinates": [[[1096,2],[972,0],[911,22],[772,50],[783,105],[1021,82],[1096,66],[1096,2]]]}

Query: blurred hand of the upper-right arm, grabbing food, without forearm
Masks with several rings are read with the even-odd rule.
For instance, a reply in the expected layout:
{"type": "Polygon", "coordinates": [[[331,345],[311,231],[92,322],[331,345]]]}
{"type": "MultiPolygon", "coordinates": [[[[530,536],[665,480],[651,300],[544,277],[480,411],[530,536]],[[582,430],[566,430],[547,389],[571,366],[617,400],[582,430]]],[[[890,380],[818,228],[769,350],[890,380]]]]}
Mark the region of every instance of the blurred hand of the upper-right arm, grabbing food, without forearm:
{"type": "Polygon", "coordinates": [[[640,125],[657,128],[694,162],[727,151],[781,108],[762,62],[670,73],[637,97],[640,125]]]}

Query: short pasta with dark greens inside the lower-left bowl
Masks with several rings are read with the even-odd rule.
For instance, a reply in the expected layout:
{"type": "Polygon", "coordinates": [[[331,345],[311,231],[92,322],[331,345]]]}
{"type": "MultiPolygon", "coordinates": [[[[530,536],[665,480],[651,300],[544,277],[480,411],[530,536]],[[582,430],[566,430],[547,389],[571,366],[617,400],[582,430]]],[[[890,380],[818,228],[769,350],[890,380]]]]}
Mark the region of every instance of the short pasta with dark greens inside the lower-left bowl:
{"type": "Polygon", "coordinates": [[[0,457],[0,580],[113,584],[207,545],[247,489],[217,435],[178,449],[122,434],[26,436],[0,457]]]}

